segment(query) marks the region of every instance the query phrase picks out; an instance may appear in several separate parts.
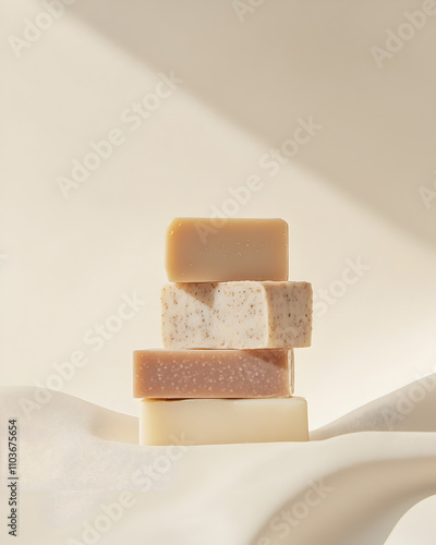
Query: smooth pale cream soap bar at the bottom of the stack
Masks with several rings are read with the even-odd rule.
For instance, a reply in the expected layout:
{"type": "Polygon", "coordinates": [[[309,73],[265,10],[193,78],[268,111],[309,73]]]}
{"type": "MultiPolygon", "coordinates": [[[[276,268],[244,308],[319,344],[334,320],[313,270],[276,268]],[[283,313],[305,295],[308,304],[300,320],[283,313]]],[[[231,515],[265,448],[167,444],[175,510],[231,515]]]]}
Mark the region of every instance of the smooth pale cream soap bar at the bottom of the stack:
{"type": "Polygon", "coordinates": [[[141,401],[141,445],[305,441],[303,398],[141,401]]]}

